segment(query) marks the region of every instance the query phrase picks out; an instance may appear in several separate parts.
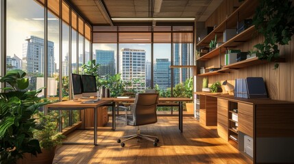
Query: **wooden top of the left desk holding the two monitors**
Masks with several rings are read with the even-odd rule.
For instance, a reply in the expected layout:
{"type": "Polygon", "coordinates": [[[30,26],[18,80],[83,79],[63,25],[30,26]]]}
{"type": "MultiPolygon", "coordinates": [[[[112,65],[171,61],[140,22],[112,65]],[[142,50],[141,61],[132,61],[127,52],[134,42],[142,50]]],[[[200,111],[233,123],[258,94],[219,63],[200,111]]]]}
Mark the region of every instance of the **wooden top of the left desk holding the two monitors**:
{"type": "Polygon", "coordinates": [[[82,101],[73,101],[73,100],[66,100],[66,101],[62,101],[62,102],[55,102],[52,104],[47,105],[47,107],[49,108],[59,108],[59,107],[75,107],[75,108],[94,108],[94,107],[99,107],[101,105],[106,105],[109,102],[112,102],[112,100],[99,100],[98,102],[95,102],[93,104],[83,104],[83,101],[86,101],[88,99],[83,99],[82,101]]]}

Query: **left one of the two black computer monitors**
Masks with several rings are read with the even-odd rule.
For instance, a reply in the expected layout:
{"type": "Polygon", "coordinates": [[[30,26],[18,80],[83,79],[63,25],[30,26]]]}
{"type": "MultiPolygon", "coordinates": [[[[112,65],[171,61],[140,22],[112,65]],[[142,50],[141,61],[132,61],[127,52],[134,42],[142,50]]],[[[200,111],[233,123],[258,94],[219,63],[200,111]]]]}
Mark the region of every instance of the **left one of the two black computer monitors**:
{"type": "Polygon", "coordinates": [[[73,98],[75,100],[83,97],[82,76],[80,74],[71,74],[71,83],[73,86],[73,98]]]}

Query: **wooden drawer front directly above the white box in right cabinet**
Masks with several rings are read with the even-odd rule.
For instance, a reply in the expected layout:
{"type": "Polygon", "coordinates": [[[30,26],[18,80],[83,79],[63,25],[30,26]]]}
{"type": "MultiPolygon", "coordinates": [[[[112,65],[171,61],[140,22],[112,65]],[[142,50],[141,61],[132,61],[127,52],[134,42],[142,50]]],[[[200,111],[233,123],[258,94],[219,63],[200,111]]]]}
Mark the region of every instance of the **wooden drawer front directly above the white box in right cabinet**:
{"type": "Polygon", "coordinates": [[[238,131],[253,137],[253,118],[252,116],[238,113],[238,131]]]}

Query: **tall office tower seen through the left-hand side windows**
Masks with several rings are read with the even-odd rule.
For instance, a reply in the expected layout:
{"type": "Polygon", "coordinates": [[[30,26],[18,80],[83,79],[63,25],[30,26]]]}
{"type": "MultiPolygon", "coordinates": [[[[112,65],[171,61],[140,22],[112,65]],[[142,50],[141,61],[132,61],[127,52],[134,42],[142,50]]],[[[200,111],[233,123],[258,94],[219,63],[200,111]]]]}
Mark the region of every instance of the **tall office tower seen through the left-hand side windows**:
{"type": "MultiPolygon", "coordinates": [[[[54,42],[47,42],[47,74],[54,73],[54,42]]],[[[25,72],[44,74],[44,39],[31,36],[23,44],[23,68],[25,72]]]]}

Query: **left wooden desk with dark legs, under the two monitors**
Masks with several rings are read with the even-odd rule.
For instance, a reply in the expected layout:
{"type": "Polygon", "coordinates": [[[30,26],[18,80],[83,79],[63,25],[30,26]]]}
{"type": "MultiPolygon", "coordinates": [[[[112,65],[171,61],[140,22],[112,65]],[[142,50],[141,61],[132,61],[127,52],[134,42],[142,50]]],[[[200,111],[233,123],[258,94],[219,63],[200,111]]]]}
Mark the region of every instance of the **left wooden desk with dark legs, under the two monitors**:
{"type": "MultiPolygon", "coordinates": [[[[75,102],[73,100],[68,100],[68,101],[62,101],[62,102],[56,102],[53,104],[49,104],[46,107],[48,110],[82,110],[82,109],[94,109],[94,145],[97,146],[97,109],[98,107],[101,107],[103,105],[107,105],[112,100],[99,100],[96,103],[93,104],[83,104],[82,100],[80,102],[75,102]]],[[[114,103],[112,103],[112,130],[115,130],[115,122],[113,121],[115,118],[115,113],[114,113],[114,103]]]]}

